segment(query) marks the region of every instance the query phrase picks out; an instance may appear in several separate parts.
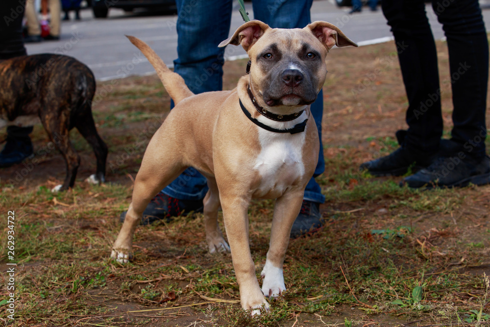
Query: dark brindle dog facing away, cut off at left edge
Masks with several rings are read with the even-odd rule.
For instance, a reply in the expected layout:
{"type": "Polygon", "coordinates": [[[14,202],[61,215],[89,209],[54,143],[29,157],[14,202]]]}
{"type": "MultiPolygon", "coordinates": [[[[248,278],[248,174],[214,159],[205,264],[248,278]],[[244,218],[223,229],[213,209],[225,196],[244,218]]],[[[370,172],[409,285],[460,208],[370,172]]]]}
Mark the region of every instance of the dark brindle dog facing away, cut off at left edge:
{"type": "Polygon", "coordinates": [[[44,53],[0,61],[0,128],[41,123],[66,162],[66,178],[53,192],[75,183],[80,157],[73,149],[69,131],[76,127],[92,146],[97,172],[87,181],[105,181],[107,146],[97,133],[92,117],[96,82],[92,71],[78,60],[44,53]]]}

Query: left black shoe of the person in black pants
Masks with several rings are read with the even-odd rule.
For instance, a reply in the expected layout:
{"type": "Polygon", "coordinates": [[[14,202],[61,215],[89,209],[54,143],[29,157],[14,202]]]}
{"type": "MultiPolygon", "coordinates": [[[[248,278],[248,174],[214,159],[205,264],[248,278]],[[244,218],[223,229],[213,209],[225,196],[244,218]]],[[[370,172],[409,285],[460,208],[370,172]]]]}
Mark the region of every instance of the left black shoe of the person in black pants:
{"type": "Polygon", "coordinates": [[[431,164],[433,156],[417,150],[401,147],[396,151],[379,159],[364,162],[359,170],[367,170],[373,176],[402,176],[408,168],[413,166],[414,171],[431,164]]]}

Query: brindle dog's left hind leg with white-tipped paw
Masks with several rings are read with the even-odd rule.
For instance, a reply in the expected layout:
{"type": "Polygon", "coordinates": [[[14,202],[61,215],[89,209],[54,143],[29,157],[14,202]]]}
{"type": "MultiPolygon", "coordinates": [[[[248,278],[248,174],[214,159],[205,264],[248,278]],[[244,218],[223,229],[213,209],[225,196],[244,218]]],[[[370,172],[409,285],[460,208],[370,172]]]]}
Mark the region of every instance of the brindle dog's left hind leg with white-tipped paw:
{"type": "Polygon", "coordinates": [[[78,166],[80,166],[80,157],[70,142],[66,120],[68,120],[68,117],[63,114],[57,119],[51,119],[49,116],[41,116],[41,123],[48,132],[51,141],[63,155],[66,163],[65,181],[63,184],[55,186],[51,192],[65,191],[73,187],[76,171],[78,170],[78,166]]]}

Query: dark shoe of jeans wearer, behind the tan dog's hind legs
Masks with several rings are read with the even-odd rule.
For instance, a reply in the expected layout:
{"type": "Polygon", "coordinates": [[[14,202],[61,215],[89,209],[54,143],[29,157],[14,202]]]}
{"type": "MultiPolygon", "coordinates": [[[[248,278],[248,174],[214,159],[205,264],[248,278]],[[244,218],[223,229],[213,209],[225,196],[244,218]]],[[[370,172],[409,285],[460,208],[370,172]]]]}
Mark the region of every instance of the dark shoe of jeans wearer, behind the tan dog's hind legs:
{"type": "MultiPolygon", "coordinates": [[[[172,221],[172,217],[178,217],[189,212],[202,212],[202,200],[179,200],[169,197],[165,193],[159,192],[148,203],[147,208],[143,211],[142,225],[148,225],[158,220],[172,221]]],[[[126,211],[121,213],[120,220],[124,221],[126,211]]]]}

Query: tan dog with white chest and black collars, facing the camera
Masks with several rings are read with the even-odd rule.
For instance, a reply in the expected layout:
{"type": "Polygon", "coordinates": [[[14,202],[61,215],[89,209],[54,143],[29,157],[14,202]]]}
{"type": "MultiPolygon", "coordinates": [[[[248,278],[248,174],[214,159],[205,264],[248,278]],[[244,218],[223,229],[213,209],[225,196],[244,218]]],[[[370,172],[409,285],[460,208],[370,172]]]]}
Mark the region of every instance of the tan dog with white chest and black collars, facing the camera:
{"type": "Polygon", "coordinates": [[[242,45],[250,58],[249,75],[232,91],[194,95],[147,44],[128,38],[147,56],[176,106],[148,144],[111,256],[123,263],[131,259],[134,230],[148,202],[195,167],[208,180],[209,251],[231,250],[242,307],[258,313],[269,307],[264,295],[277,297],[286,290],[282,267],[291,227],[318,161],[310,104],[325,82],[325,56],[334,45],[357,45],[326,22],[278,29],[250,21],[220,44],[242,45]],[[252,198],[276,199],[262,288],[249,248],[252,198]],[[229,246],[218,226],[220,206],[229,246]]]}

